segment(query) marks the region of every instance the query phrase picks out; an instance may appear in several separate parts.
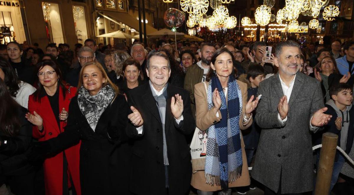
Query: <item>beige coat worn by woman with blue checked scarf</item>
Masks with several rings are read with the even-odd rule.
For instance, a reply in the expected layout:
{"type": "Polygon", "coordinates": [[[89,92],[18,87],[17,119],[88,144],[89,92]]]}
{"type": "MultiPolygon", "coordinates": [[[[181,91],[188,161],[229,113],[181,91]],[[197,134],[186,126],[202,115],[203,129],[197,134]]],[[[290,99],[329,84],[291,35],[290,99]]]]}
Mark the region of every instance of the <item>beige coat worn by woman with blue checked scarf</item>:
{"type": "MultiPolygon", "coordinates": [[[[237,83],[239,84],[242,93],[242,115],[240,117],[240,129],[244,130],[251,126],[253,120],[251,118],[247,124],[242,123],[242,119],[245,114],[245,107],[247,104],[247,84],[242,83],[240,81],[237,81],[237,83]]],[[[208,87],[209,83],[206,84],[208,87]]],[[[220,117],[216,117],[216,113],[214,113],[212,109],[208,110],[207,96],[206,96],[206,91],[203,82],[194,85],[194,98],[195,98],[195,107],[196,107],[196,125],[200,130],[205,131],[211,125],[220,121],[221,113],[220,111],[218,111],[220,117]]],[[[250,175],[248,172],[245,144],[242,138],[242,133],[241,133],[241,147],[242,147],[242,175],[240,178],[236,179],[236,181],[234,181],[233,183],[229,183],[230,188],[250,185],[250,175]]],[[[196,171],[195,173],[192,173],[191,185],[194,188],[202,191],[221,190],[221,186],[217,186],[217,185],[211,186],[209,184],[206,184],[204,170],[196,171]]]]}

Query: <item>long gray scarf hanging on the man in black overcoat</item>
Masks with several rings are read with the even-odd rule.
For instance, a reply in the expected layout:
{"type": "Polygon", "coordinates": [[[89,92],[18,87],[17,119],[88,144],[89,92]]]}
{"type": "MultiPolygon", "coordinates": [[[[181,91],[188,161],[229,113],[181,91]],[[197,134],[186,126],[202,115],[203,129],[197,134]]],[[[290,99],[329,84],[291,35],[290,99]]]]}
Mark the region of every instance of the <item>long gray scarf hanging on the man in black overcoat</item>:
{"type": "Polygon", "coordinates": [[[169,165],[169,159],[167,158],[167,144],[166,144],[166,134],[165,134],[165,119],[166,119],[166,105],[167,105],[167,84],[165,85],[164,91],[162,91],[161,95],[156,95],[155,91],[153,89],[153,86],[151,85],[151,82],[149,81],[151,92],[153,93],[153,96],[156,101],[156,105],[159,108],[159,114],[161,118],[161,123],[162,123],[162,134],[164,137],[164,165],[169,165]]]}

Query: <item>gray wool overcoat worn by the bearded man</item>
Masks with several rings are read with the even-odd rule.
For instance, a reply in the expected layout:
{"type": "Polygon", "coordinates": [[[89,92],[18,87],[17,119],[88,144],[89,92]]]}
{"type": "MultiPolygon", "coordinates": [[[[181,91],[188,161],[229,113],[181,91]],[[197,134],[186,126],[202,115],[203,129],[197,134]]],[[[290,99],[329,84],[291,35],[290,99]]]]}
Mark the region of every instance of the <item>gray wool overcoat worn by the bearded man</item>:
{"type": "Polygon", "coordinates": [[[310,128],[314,112],[324,107],[321,85],[316,79],[296,74],[289,99],[287,121],[278,119],[278,104],[284,95],[279,73],[260,83],[255,120],[262,128],[252,178],[277,192],[303,193],[313,190],[313,165],[310,128]]]}

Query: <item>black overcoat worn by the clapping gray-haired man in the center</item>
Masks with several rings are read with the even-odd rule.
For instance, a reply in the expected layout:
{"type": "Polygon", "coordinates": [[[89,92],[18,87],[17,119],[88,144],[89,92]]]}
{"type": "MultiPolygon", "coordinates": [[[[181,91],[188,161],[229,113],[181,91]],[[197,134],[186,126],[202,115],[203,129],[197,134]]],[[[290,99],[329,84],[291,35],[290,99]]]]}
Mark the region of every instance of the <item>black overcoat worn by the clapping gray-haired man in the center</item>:
{"type": "MultiPolygon", "coordinates": [[[[135,138],[132,148],[130,190],[135,194],[164,195],[165,167],[163,157],[162,123],[149,83],[128,92],[128,104],[141,113],[144,120],[143,134],[136,127],[127,125],[127,135],[135,138]]],[[[195,122],[190,109],[188,91],[167,85],[166,143],[169,158],[169,195],[183,195],[189,192],[192,164],[186,135],[195,130],[195,122]],[[183,120],[177,124],[171,112],[171,97],[182,96],[183,120]]]]}

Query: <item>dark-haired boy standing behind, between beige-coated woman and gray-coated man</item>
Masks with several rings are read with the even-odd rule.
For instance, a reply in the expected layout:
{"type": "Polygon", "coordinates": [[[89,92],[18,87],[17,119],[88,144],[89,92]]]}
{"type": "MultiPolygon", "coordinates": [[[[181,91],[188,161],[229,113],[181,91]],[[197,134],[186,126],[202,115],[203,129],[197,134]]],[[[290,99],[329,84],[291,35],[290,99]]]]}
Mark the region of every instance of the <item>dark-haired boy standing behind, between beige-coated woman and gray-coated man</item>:
{"type": "MultiPolygon", "coordinates": [[[[251,98],[252,95],[254,95],[256,99],[259,83],[264,80],[264,77],[265,77],[265,70],[263,66],[259,64],[249,66],[246,78],[250,82],[251,87],[247,89],[247,101],[251,98]]],[[[254,117],[256,116],[255,111],[253,111],[252,116],[253,116],[252,125],[250,126],[250,128],[242,131],[242,135],[245,143],[245,152],[247,156],[247,164],[249,167],[251,166],[252,158],[255,155],[259,136],[260,136],[260,131],[261,131],[261,129],[258,127],[258,125],[254,120],[254,117]]],[[[256,189],[256,187],[252,184],[252,181],[249,188],[252,190],[256,189]]],[[[248,189],[245,189],[244,187],[237,188],[238,194],[246,194],[246,191],[248,191],[248,189]]]]}

